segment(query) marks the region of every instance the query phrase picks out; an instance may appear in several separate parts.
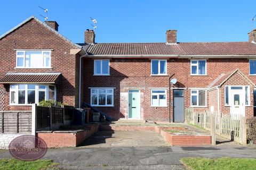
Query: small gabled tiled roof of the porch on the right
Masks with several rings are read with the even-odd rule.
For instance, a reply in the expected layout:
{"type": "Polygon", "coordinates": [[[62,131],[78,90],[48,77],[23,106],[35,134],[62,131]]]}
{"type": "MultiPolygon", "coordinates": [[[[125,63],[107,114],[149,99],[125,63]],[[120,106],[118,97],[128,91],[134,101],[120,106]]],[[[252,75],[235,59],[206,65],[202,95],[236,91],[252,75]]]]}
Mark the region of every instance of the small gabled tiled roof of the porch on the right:
{"type": "Polygon", "coordinates": [[[215,79],[210,84],[210,86],[208,88],[210,89],[210,88],[213,88],[213,87],[221,86],[223,83],[225,83],[236,72],[239,72],[245,79],[247,79],[251,84],[253,84],[253,86],[255,86],[254,83],[249,78],[246,77],[246,75],[244,75],[239,69],[236,69],[236,70],[233,70],[229,73],[220,74],[220,76],[217,79],[215,79]]]}

